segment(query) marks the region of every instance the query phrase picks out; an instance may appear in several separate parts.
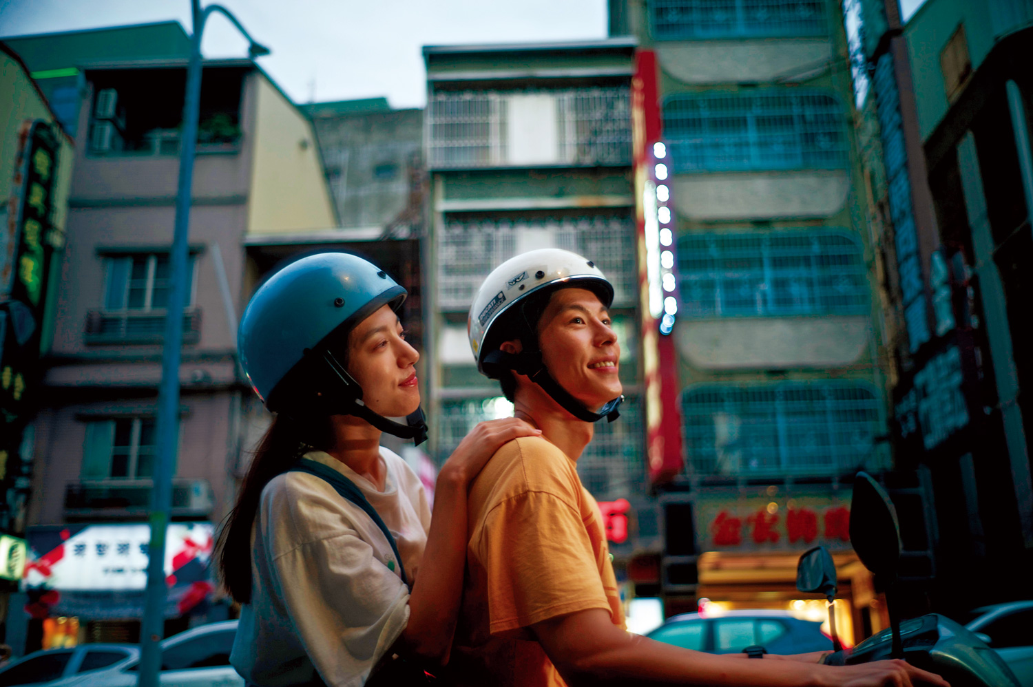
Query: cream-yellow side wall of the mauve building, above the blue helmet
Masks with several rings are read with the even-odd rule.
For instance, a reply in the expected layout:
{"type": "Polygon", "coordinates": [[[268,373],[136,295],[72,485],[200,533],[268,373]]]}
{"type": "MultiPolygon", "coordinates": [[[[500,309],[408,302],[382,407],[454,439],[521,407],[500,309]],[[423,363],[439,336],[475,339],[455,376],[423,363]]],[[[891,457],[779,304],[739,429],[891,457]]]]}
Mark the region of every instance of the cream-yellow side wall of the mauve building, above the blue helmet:
{"type": "Polygon", "coordinates": [[[311,123],[265,79],[256,90],[248,232],[337,226],[311,123]]]}

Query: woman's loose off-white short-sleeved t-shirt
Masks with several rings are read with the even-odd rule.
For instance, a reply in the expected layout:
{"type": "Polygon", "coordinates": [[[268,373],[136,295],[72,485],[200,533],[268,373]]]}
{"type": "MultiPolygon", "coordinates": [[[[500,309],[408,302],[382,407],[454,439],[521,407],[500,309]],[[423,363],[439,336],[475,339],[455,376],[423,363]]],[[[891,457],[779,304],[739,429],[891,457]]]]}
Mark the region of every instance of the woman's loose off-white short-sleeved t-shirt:
{"type": "MultiPolygon", "coordinates": [[[[431,509],[419,477],[380,448],[384,491],[322,451],[305,456],[362,490],[398,543],[409,584],[427,544],[431,509]]],[[[262,687],[309,682],[313,665],[330,687],[362,685],[405,629],[409,590],[376,523],[324,479],[303,472],[262,490],[251,530],[251,602],[230,663],[262,687]]]]}

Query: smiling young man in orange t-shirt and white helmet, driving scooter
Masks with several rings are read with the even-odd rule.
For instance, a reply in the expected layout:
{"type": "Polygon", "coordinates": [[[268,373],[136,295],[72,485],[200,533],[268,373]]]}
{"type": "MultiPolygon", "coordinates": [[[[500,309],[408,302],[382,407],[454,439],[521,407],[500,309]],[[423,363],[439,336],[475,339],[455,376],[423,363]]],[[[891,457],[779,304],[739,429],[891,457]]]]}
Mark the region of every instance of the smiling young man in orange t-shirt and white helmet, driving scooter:
{"type": "Polygon", "coordinates": [[[718,656],[632,634],[598,506],[575,461],[618,415],[614,289],[586,258],[519,255],[470,310],[478,369],[542,431],[503,445],[469,492],[467,574],[450,677],[460,685],[912,685],[946,683],[903,661],[834,667],[821,654],[718,656]]]}

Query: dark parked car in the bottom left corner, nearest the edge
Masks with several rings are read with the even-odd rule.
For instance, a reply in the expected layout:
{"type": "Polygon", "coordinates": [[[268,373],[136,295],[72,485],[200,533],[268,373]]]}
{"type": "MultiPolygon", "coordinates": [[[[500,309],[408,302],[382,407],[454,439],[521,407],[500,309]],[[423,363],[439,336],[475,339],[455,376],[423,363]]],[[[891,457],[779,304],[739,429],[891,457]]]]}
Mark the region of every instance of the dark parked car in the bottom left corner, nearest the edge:
{"type": "Polygon", "coordinates": [[[0,668],[0,687],[74,685],[105,668],[125,666],[139,658],[139,649],[126,644],[85,644],[73,649],[36,651],[0,668]]]}

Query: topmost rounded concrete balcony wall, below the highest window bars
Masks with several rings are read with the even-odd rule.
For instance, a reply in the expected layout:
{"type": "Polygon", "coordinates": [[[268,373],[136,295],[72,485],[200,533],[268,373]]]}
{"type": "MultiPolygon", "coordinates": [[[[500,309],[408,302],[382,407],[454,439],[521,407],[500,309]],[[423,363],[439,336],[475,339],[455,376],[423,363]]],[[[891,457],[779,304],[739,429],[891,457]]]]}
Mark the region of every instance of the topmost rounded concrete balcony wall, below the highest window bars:
{"type": "Polygon", "coordinates": [[[657,42],[654,49],[663,72],[691,85],[792,82],[823,68],[832,57],[832,41],[822,38],[657,42]]]}

